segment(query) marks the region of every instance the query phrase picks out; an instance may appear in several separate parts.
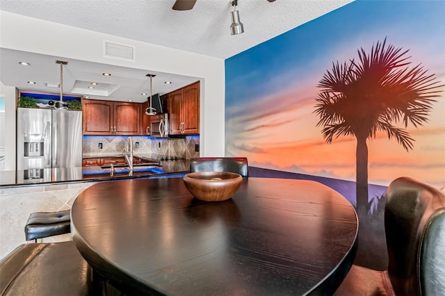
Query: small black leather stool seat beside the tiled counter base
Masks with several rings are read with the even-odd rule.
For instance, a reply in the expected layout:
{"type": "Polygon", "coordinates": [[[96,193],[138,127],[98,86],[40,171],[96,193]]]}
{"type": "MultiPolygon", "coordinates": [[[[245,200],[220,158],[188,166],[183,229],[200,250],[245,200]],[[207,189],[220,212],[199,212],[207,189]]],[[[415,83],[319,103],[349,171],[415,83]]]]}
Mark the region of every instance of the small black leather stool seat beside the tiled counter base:
{"type": "Polygon", "coordinates": [[[58,236],[71,231],[70,210],[59,212],[38,212],[29,215],[25,225],[26,240],[58,236]]]}

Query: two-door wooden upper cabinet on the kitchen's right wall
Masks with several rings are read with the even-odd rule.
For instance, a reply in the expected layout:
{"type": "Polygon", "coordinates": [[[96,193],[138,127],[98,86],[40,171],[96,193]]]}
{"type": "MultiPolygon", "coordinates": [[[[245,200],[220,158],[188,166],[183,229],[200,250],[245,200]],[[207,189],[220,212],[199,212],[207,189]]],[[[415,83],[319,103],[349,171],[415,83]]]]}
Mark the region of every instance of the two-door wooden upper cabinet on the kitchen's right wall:
{"type": "Polygon", "coordinates": [[[200,133],[200,81],[168,94],[170,135],[200,133]]]}

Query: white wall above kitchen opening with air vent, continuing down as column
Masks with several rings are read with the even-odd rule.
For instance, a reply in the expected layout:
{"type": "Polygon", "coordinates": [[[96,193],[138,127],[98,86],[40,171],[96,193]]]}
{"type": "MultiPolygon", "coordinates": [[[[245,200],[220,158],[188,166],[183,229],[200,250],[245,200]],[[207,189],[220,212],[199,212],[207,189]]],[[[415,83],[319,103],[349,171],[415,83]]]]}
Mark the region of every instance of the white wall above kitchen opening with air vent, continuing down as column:
{"type": "Polygon", "coordinates": [[[201,156],[224,156],[224,60],[0,11],[0,46],[201,78],[201,156]],[[104,57],[103,42],[135,47],[135,62],[104,57]]]}

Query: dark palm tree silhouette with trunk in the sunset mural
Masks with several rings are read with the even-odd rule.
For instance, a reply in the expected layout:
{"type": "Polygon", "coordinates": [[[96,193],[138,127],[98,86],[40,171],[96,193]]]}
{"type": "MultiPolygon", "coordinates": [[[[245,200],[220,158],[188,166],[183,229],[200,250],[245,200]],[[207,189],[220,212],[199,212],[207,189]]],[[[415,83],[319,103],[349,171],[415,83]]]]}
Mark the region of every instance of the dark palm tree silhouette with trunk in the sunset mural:
{"type": "Polygon", "coordinates": [[[408,67],[408,50],[386,44],[386,38],[373,45],[371,53],[358,50],[359,61],[332,63],[332,69],[319,81],[315,106],[324,126],[322,133],[327,143],[341,135],[353,135],[356,148],[357,209],[366,211],[368,204],[368,147],[366,140],[385,132],[388,138],[410,151],[414,139],[405,129],[394,124],[403,122],[422,126],[428,121],[434,97],[439,97],[435,74],[427,74],[421,64],[408,67]]]}

